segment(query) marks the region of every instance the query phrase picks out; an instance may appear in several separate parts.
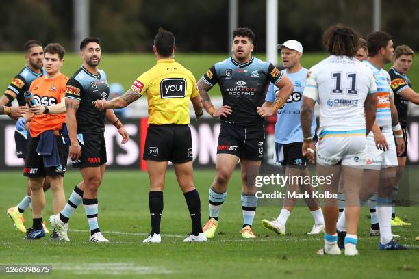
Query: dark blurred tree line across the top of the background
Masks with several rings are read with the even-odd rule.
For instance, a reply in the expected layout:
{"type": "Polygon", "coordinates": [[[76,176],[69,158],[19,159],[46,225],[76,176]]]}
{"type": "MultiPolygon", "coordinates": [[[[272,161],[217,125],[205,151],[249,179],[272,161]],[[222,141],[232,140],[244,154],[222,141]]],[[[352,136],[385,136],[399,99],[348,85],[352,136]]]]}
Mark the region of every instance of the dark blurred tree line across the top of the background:
{"type": "MultiPolygon", "coordinates": [[[[90,35],[108,52],[151,51],[159,27],[176,36],[178,51],[226,52],[229,46],[228,0],[90,0],[90,35]]],[[[278,41],[299,40],[305,51],[322,51],[322,32],[343,23],[362,36],[372,31],[372,0],[279,0],[278,41]]],[[[382,0],[381,29],[394,43],[419,49],[419,2],[382,0]]],[[[266,49],[266,1],[239,0],[239,26],[266,49]]],[[[21,51],[31,38],[60,42],[73,50],[73,1],[0,1],[0,51],[21,51]]]]}

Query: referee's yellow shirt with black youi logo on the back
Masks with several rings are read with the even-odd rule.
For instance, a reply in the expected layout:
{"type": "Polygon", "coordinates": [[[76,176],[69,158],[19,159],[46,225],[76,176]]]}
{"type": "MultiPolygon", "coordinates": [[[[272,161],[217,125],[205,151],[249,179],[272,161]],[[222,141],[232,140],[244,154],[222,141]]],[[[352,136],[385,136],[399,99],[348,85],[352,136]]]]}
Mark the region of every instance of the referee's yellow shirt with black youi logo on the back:
{"type": "Polygon", "coordinates": [[[174,59],[161,59],[140,75],[131,86],[139,95],[146,94],[149,124],[189,124],[190,98],[199,96],[192,72],[174,59]]]}

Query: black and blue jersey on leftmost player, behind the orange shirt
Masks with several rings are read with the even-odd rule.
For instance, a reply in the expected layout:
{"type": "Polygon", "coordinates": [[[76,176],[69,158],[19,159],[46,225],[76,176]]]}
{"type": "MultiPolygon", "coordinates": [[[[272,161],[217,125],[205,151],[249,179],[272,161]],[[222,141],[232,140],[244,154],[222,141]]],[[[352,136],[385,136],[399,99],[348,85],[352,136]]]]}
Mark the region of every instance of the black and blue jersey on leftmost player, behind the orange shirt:
{"type": "MultiPolygon", "coordinates": [[[[13,78],[12,82],[8,86],[8,90],[16,93],[16,101],[19,105],[26,105],[25,96],[23,93],[31,87],[32,81],[45,75],[45,71],[42,69],[38,74],[31,70],[27,65],[23,68],[16,77],[13,78]]],[[[11,105],[11,104],[8,104],[11,105]]]]}

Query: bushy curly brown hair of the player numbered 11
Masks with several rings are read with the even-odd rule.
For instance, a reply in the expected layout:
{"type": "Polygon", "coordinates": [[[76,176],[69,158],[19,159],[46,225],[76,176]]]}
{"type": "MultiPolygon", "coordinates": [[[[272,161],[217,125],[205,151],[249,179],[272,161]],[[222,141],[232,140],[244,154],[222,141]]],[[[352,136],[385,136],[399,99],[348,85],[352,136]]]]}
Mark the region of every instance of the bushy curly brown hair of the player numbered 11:
{"type": "Polygon", "coordinates": [[[359,35],[349,27],[334,25],[323,34],[323,45],[331,55],[354,57],[359,49],[359,35]]]}

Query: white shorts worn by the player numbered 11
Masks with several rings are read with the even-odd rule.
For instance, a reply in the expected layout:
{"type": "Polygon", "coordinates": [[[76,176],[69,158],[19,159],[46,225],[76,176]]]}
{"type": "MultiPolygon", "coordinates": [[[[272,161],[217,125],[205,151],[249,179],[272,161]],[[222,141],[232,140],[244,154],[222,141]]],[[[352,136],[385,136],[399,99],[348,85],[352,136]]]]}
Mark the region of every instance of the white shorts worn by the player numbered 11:
{"type": "MultiPolygon", "coordinates": [[[[365,134],[365,132],[364,132],[365,134]]],[[[316,161],[320,165],[364,165],[366,157],[366,136],[325,136],[318,142],[316,161]]]]}

